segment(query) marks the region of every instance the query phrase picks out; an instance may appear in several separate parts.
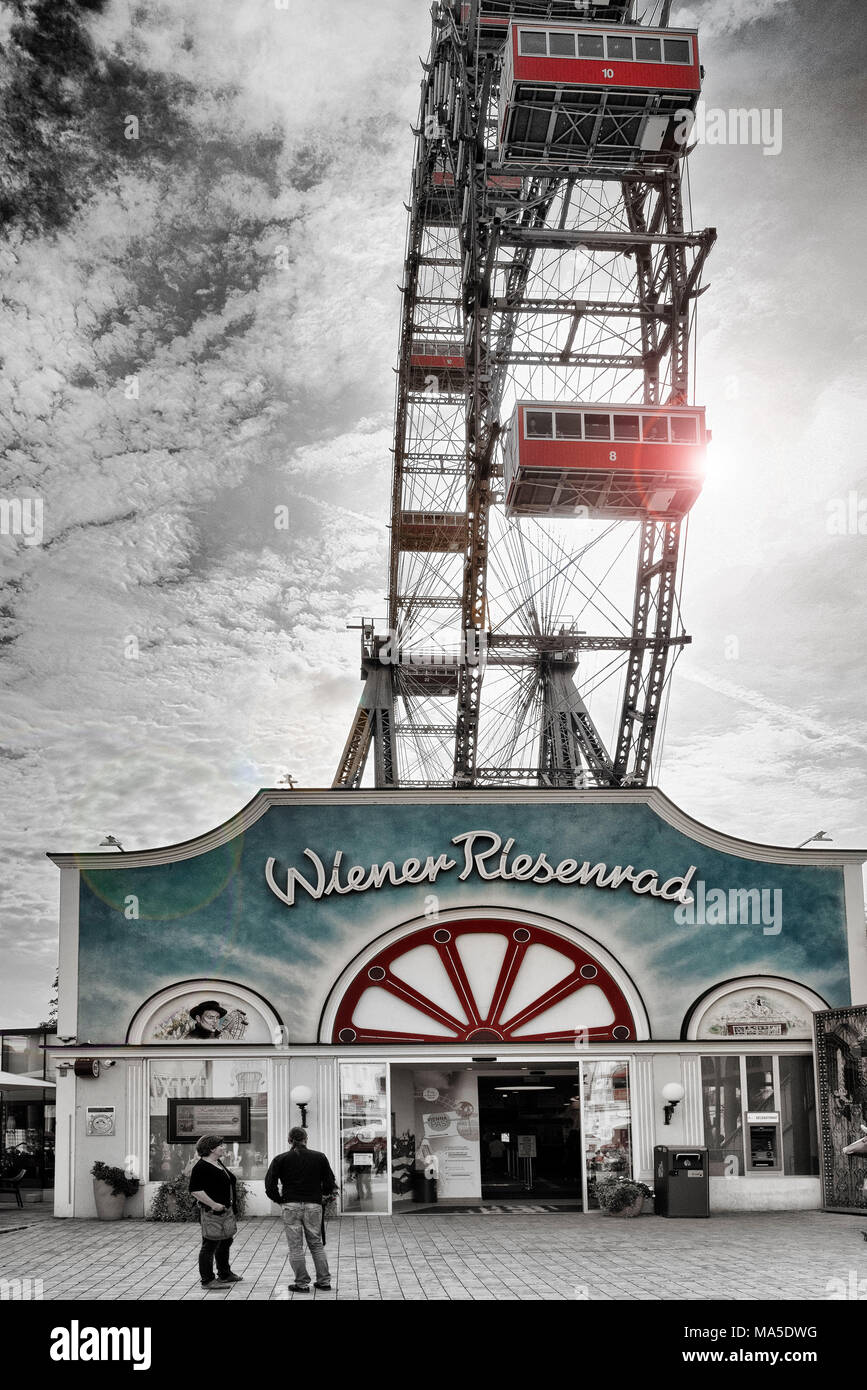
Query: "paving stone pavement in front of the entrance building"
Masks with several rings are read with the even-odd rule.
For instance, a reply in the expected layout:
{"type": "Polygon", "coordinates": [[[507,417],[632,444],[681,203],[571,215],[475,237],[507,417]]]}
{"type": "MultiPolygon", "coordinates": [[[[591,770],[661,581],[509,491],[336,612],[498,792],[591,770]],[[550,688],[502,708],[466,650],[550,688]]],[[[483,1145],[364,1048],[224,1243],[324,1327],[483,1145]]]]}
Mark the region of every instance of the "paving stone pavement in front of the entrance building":
{"type": "Polygon", "coordinates": [[[857,1290],[860,1280],[867,1297],[864,1229],[864,1216],[824,1212],[709,1220],[572,1212],[345,1216],[328,1226],[333,1289],[310,1295],[288,1293],[292,1269],[272,1218],[240,1223],[232,1268],[243,1282],[208,1293],[199,1286],[193,1225],[56,1220],[4,1208],[0,1280],[42,1279],[44,1300],[106,1302],[828,1300],[829,1287],[857,1290]]]}

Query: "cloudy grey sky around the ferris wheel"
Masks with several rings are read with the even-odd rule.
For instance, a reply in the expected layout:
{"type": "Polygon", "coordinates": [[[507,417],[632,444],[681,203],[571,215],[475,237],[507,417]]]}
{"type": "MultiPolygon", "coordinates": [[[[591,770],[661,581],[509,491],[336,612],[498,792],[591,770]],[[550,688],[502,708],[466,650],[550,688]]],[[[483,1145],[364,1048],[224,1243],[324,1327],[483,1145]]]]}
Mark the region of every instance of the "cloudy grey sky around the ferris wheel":
{"type": "MultiPolygon", "coordinates": [[[[383,607],[429,7],[278,4],[0,0],[0,498],[43,503],[0,535],[3,1026],[47,1008],[44,851],[328,785],[383,607]]],[[[659,783],[778,844],[867,845],[859,11],[675,11],[781,147],[689,161],[714,445],[659,783]]]]}

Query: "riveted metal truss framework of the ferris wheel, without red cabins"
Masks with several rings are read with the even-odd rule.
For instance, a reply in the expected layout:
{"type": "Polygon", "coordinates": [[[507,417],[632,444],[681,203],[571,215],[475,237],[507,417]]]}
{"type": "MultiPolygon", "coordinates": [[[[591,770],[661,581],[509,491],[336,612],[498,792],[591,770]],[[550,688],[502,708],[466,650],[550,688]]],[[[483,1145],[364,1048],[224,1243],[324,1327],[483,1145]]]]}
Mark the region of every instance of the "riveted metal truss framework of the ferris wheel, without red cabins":
{"type": "Polygon", "coordinates": [[[688,403],[716,239],[684,224],[685,158],[497,161],[510,17],[635,22],[627,0],[578,15],[572,0],[434,4],[402,284],[388,634],[363,620],[365,684],[335,787],[361,784],[371,744],[377,787],[645,785],[670,657],[689,642],[679,521],[564,528],[499,506],[500,421],[518,396],[688,403]],[[420,368],[420,345],[463,356],[420,368]],[[588,612],[609,630],[578,628],[588,612]]]}

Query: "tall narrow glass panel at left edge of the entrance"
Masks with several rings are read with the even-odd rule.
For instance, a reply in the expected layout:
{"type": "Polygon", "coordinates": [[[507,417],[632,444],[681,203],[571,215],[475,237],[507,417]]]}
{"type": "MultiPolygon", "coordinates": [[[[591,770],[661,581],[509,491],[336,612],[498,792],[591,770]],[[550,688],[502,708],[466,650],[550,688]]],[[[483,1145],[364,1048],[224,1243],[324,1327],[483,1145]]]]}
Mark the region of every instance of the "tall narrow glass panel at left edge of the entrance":
{"type": "Polygon", "coordinates": [[[388,1074],[377,1062],[340,1062],[345,1212],[388,1212],[388,1074]]]}

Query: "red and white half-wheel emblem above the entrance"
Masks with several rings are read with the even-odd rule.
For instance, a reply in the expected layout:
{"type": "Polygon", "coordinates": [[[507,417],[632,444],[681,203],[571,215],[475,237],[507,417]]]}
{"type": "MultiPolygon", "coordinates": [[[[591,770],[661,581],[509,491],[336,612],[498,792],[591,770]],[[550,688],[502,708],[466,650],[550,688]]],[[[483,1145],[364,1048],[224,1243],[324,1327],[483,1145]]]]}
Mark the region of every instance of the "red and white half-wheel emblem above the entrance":
{"type": "Polygon", "coordinates": [[[635,1037],[622,990],[582,947],[499,919],[422,927],[358,970],[335,1042],[604,1042],[635,1037]]]}

